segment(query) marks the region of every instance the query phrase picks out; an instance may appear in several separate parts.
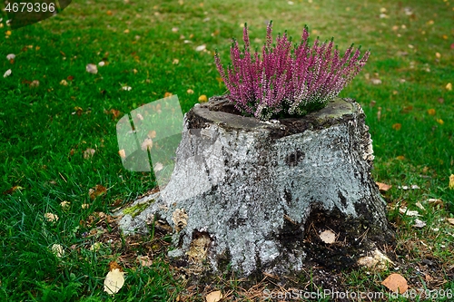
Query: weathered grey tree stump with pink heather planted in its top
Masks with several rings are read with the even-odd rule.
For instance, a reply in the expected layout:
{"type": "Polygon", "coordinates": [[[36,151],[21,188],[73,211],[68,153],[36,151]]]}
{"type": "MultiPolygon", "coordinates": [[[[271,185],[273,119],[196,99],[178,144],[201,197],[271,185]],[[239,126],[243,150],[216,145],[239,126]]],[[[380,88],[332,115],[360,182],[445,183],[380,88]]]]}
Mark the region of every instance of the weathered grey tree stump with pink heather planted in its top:
{"type": "Polygon", "coordinates": [[[239,115],[222,97],[196,104],[184,116],[169,183],[137,200],[133,206],[150,206],[124,215],[121,227],[147,232],[165,220],[173,228],[169,256],[242,276],[298,272],[314,258],[350,266],[393,239],[370,175],[364,118],[358,102],[340,98],[271,122],[239,115]],[[327,229],[336,242],[320,239],[327,229]]]}

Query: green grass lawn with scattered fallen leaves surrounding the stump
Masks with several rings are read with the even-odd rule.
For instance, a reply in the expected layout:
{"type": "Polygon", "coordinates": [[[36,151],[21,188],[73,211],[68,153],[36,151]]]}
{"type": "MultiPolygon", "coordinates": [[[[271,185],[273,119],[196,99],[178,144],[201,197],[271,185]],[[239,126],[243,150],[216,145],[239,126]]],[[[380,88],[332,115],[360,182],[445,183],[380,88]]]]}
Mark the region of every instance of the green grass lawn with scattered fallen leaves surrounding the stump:
{"type": "MultiPolygon", "coordinates": [[[[454,214],[454,190],[448,188],[454,173],[454,98],[446,89],[454,82],[453,5],[442,0],[180,3],[77,0],[61,14],[10,35],[4,16],[0,73],[11,69],[12,74],[0,77],[0,192],[5,192],[0,195],[0,299],[151,301],[174,300],[183,293],[183,283],[154,246],[143,248],[123,238],[119,245],[104,240],[99,251],[89,249],[106,235],[86,232],[100,225],[104,233],[109,230],[108,222],[91,219],[94,212],[112,213],[155,185],[149,173],[123,169],[117,119],[106,112],[114,109],[123,116],[165,93],[177,94],[187,112],[200,95],[224,93],[214,50],[227,62],[230,39],[242,36],[244,22],[253,44],[262,45],[271,19],[275,33],[287,29],[298,37],[308,24],[312,36],[334,36],[341,49],[352,42],[371,49],[370,61],[341,96],[362,104],[374,141],[374,177],[393,185],[386,198],[399,233],[398,256],[413,267],[424,258],[436,261],[437,276],[432,277],[447,281],[437,288],[454,290],[454,229],[441,220],[454,214]],[[414,15],[405,14],[407,6],[414,15]],[[388,18],[379,17],[382,7],[388,18]],[[206,52],[195,51],[201,44],[206,52]],[[7,54],[16,55],[14,63],[6,60],[7,54]],[[100,61],[106,65],[97,74],[85,72],[87,63],[100,61]],[[370,83],[367,75],[380,78],[381,84],[370,83]],[[39,85],[32,87],[33,81],[39,85]],[[124,91],[125,85],[132,90],[124,91]],[[397,123],[400,130],[393,128],[397,123]],[[88,148],[94,156],[84,159],[88,148]],[[398,189],[411,184],[420,189],[398,189]],[[88,191],[96,185],[107,191],[91,200],[88,191]],[[7,192],[15,186],[22,189],[7,192]],[[443,205],[431,206],[425,201],[429,198],[441,199],[443,205]],[[71,203],[68,211],[60,206],[64,200],[71,203]],[[419,210],[419,219],[428,224],[423,229],[412,228],[414,218],[391,209],[397,202],[418,209],[418,201],[426,209],[419,210]],[[83,209],[84,203],[90,207],[83,209]],[[59,220],[47,222],[47,212],[59,220]],[[50,251],[55,243],[64,247],[64,258],[50,251]],[[130,260],[145,254],[153,255],[150,268],[130,260]],[[126,284],[114,298],[103,291],[110,261],[127,272],[126,284]]],[[[414,287],[426,286],[414,269],[399,272],[414,287]]],[[[354,271],[342,279],[350,288],[383,291],[380,282],[389,273],[354,271]]],[[[198,295],[194,299],[203,298],[198,295]]]]}

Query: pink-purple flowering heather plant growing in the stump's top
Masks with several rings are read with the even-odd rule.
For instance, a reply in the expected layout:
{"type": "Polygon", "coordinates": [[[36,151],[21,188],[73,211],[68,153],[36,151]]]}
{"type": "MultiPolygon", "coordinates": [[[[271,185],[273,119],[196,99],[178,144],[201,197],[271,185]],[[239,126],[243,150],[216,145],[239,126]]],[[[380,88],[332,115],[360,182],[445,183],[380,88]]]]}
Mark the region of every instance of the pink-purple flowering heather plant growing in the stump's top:
{"type": "Polygon", "coordinates": [[[310,43],[304,26],[300,44],[291,45],[287,33],[279,34],[272,44],[272,23],[268,24],[262,56],[252,54],[247,24],[243,30],[244,50],[233,39],[232,63],[226,70],[219,54],[216,67],[230,91],[229,100],[245,115],[261,120],[287,115],[304,115],[319,110],[360,73],[370,51],[360,58],[360,47],[353,44],[341,57],[331,41],[321,43],[319,37],[310,43]],[[333,49],[334,48],[334,49],[333,49]]]}

